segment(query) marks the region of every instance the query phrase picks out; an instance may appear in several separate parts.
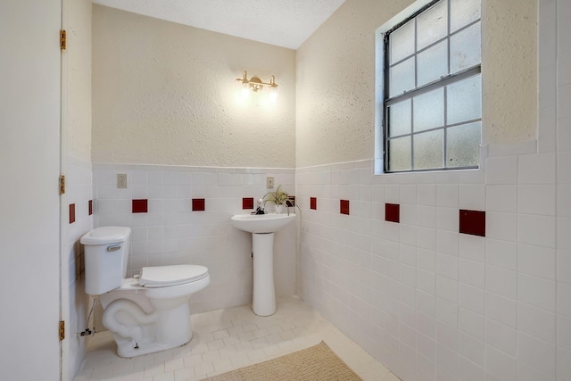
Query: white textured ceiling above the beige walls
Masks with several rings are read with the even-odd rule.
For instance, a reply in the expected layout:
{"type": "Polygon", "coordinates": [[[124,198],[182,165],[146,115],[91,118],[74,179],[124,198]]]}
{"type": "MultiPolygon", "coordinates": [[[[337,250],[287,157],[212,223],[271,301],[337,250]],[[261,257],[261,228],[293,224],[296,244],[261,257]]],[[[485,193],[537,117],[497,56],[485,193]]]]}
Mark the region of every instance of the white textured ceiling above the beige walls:
{"type": "Polygon", "coordinates": [[[128,12],[297,49],[345,0],[92,0],[128,12]]]}

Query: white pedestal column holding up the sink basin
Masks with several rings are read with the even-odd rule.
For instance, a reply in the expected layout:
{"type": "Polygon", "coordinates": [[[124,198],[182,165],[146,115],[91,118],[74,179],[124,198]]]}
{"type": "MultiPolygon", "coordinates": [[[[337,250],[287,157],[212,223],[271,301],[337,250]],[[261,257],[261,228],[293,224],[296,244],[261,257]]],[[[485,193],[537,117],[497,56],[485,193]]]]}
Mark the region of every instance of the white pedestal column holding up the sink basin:
{"type": "Polygon", "coordinates": [[[274,233],[252,233],[252,311],[259,316],[276,312],[274,288],[274,233]]]}

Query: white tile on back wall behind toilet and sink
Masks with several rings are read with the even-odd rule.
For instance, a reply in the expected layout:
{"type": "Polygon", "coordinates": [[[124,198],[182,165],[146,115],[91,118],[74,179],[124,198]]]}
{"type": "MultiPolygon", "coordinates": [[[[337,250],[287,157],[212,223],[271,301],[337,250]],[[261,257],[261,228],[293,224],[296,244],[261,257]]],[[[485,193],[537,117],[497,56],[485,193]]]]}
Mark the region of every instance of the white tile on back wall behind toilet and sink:
{"type": "MultiPolygon", "coordinates": [[[[132,228],[128,276],[143,266],[193,263],[209,269],[211,284],[191,298],[193,313],[252,301],[252,236],[230,224],[243,197],[265,195],[266,176],[294,194],[294,170],[178,167],[94,163],[95,227],[132,228]],[[117,174],[128,174],[118,189],[117,174]],[[204,198],[205,211],[191,199],[204,198]],[[132,199],[148,199],[147,213],[132,213],[132,199]]],[[[349,178],[347,178],[349,182],[349,178]]],[[[278,296],[295,294],[296,225],[276,234],[278,296]]]]}

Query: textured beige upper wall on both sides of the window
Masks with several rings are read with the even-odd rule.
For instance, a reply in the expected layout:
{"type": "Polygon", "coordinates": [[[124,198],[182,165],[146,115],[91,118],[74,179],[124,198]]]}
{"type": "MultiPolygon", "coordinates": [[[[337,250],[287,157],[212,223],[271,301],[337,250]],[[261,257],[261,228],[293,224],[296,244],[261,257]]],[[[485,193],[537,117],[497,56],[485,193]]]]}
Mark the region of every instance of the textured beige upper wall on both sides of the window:
{"type": "MultiPolygon", "coordinates": [[[[374,157],[375,30],[412,3],[347,0],[298,49],[298,167],[374,157]]],[[[482,8],[484,144],[533,140],[537,1],[483,0],[482,8]]]]}

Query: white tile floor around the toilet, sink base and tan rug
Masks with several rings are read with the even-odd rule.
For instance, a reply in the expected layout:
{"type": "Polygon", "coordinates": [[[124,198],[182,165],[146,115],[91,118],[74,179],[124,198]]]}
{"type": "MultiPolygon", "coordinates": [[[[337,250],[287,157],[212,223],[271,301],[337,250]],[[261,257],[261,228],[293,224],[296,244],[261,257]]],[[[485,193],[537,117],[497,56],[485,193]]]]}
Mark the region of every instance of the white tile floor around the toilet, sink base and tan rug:
{"type": "Polygon", "coordinates": [[[297,297],[277,301],[277,312],[261,318],[249,305],[192,316],[194,337],[168,351],[123,359],[112,335],[89,343],[85,367],[75,381],[194,381],[270,360],[322,340],[363,380],[399,381],[359,345],[297,297]]]}

